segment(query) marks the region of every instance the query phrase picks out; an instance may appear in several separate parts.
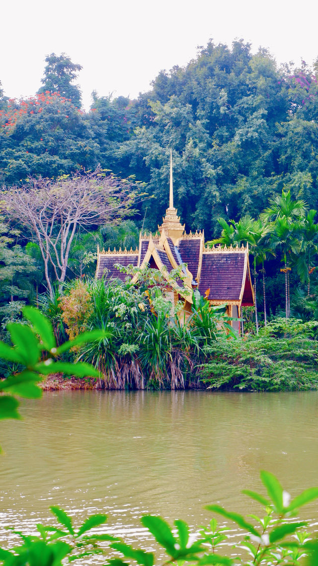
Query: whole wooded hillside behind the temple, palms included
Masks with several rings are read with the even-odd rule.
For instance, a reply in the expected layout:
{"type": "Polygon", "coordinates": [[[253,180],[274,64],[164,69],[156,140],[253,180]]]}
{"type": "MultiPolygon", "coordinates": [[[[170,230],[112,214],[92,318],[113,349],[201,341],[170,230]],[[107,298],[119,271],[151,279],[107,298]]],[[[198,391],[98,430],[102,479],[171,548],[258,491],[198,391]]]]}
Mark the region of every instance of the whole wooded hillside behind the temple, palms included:
{"type": "Polygon", "coordinates": [[[245,313],[247,331],[277,316],[316,320],[318,59],[278,66],[243,40],[210,41],[185,67],[160,71],[135,100],[93,91],[88,111],[80,70],[52,53],[34,96],[8,98],[0,83],[2,328],[26,302],[38,305],[47,291],[53,300],[56,282],[60,290],[93,276],[97,245],[134,248],[140,229],[156,231],[168,205],[170,149],[186,231],[249,243],[258,318],[245,313]],[[47,187],[80,187],[85,175],[110,180],[116,195],[92,197],[95,208],[85,221],[69,221],[52,260],[23,206],[36,194],[41,203],[47,187]],[[12,195],[31,192],[19,208],[12,195]],[[107,213],[97,215],[101,203],[107,213]]]}

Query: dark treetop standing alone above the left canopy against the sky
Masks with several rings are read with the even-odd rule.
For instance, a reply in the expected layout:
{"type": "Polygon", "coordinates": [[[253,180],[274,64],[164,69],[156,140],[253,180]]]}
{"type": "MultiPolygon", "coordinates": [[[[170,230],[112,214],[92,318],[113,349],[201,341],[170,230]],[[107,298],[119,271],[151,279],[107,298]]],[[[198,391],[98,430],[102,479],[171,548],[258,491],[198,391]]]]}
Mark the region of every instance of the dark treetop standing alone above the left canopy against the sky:
{"type": "Polygon", "coordinates": [[[72,104],[81,106],[81,91],[78,85],[72,84],[77,75],[82,70],[81,65],[72,63],[66,53],[46,55],[46,66],[42,87],[38,89],[38,94],[49,91],[50,93],[59,92],[61,96],[69,98],[72,104]]]}

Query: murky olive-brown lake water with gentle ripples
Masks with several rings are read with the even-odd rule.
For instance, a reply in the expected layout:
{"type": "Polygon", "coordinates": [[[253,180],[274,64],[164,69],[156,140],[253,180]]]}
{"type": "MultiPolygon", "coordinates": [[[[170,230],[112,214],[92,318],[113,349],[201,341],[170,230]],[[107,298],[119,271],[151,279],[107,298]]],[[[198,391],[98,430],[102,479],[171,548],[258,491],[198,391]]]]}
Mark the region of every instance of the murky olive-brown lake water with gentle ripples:
{"type": "Polygon", "coordinates": [[[291,495],[318,485],[317,409],[314,391],[45,392],[23,402],[23,421],[0,423],[0,539],[47,524],[53,504],[75,522],[106,512],[104,530],[148,547],[145,513],[195,527],[211,503],[258,512],[240,491],[265,495],[260,469],[291,495]]]}

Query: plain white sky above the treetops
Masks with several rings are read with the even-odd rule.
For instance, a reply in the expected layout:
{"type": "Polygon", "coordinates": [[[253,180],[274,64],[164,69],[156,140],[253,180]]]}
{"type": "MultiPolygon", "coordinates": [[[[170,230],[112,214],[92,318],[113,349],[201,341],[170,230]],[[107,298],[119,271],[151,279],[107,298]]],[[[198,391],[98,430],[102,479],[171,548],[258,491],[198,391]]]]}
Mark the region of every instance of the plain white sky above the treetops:
{"type": "Polygon", "coordinates": [[[162,69],[185,65],[209,38],[268,48],[278,62],[318,56],[318,2],[295,0],[0,0],[0,81],[7,96],[32,96],[44,58],[80,63],[86,109],[99,96],[136,97],[162,69]]]}

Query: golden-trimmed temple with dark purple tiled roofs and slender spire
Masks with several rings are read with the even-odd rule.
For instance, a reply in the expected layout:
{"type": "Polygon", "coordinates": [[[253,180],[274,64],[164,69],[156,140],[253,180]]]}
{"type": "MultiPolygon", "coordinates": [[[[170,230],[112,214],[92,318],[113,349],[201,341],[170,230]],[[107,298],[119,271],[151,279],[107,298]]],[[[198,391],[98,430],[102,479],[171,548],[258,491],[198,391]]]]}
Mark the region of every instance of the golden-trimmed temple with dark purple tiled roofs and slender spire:
{"type": "MultiPolygon", "coordinates": [[[[173,293],[174,301],[184,301],[184,313],[191,312],[192,291],[198,289],[206,295],[212,305],[226,305],[229,316],[239,318],[241,308],[254,305],[254,292],[249,266],[249,247],[207,247],[204,231],[186,234],[173,206],[172,160],[170,162],[169,208],[165,213],[160,236],[140,234],[136,250],[97,252],[96,277],[117,277],[125,280],[127,274],[120,272],[115,264],[134,267],[148,266],[159,269],[167,279],[167,290],[173,293]],[[171,281],[169,273],[180,268],[183,285],[171,281]]],[[[137,282],[138,273],[132,281],[137,282]]],[[[181,313],[182,315],[182,313],[181,313]]],[[[239,331],[237,320],[233,328],[239,331]]]]}

